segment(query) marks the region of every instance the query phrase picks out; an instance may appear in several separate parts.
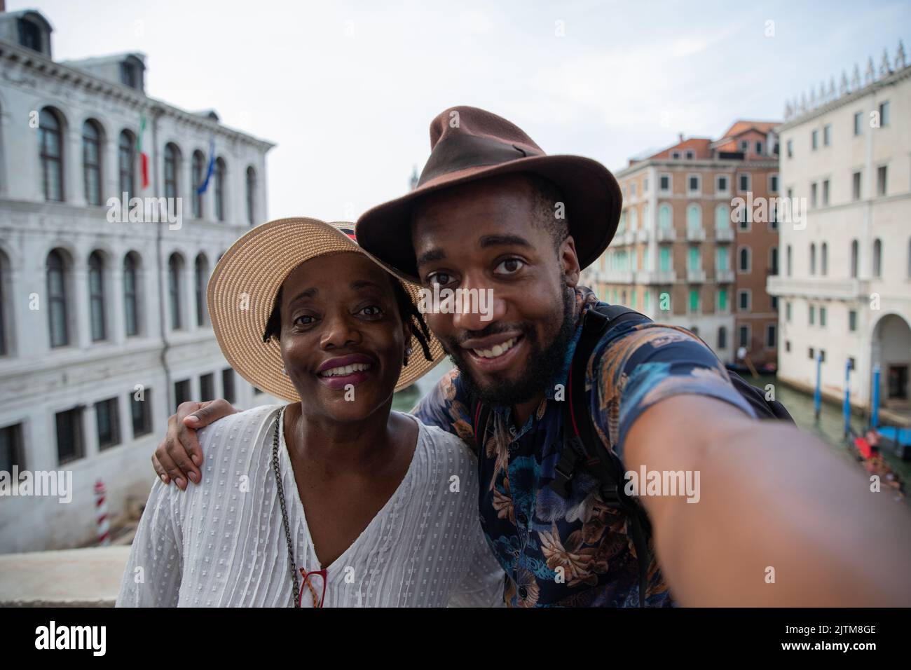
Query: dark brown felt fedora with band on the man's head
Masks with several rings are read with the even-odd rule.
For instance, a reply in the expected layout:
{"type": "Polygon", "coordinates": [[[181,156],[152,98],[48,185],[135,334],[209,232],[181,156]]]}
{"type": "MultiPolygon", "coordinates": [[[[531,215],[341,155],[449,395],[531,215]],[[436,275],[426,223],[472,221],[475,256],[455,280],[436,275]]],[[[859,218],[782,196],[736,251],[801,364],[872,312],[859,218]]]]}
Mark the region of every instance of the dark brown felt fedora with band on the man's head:
{"type": "Polygon", "coordinates": [[[532,172],[557,185],[579,265],[594,263],[617,231],[623,204],[610,170],[582,156],[548,156],[517,125],[476,107],[448,108],[431,121],[430,158],[417,187],[366,211],[357,221],[357,242],[418,283],[411,243],[415,201],[456,184],[513,172],[532,172]]]}

